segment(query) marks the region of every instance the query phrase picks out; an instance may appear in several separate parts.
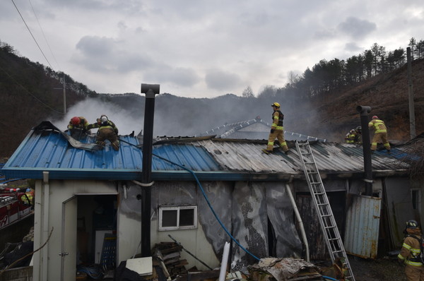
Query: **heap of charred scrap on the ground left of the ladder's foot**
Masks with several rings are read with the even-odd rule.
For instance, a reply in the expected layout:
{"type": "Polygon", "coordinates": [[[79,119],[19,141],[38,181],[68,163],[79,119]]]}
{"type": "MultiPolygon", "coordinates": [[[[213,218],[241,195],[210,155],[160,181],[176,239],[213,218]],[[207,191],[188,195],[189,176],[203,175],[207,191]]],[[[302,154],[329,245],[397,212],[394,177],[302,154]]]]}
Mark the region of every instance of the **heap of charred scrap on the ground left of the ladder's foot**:
{"type": "Polygon", "coordinates": [[[259,263],[249,265],[247,270],[257,281],[285,281],[301,275],[319,274],[316,265],[295,258],[261,258],[259,263]]]}

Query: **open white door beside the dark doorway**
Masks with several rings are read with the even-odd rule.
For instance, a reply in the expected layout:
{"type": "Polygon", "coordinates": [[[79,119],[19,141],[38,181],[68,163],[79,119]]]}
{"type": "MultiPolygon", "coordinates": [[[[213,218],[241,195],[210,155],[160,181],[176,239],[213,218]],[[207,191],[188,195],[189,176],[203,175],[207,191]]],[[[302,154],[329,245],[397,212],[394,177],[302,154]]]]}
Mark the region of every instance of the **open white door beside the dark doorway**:
{"type": "Polygon", "coordinates": [[[61,225],[61,281],[74,281],[76,278],[76,196],[62,203],[61,225]]]}

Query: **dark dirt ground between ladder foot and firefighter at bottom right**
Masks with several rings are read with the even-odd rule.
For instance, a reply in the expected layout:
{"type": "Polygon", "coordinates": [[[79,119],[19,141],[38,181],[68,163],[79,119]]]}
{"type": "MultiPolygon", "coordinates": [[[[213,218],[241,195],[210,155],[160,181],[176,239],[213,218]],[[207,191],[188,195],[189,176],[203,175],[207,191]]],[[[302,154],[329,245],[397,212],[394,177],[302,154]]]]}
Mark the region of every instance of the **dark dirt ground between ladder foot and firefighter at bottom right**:
{"type": "Polygon", "coordinates": [[[407,281],[396,257],[375,260],[348,256],[356,281],[407,281]]]}

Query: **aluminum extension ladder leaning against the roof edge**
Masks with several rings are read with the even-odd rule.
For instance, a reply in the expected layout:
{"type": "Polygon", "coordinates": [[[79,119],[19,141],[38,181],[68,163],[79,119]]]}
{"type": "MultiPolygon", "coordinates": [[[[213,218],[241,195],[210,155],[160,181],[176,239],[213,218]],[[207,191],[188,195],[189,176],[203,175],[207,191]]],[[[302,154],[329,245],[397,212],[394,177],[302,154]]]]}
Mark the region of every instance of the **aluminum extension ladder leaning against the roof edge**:
{"type": "Polygon", "coordinates": [[[308,141],[299,143],[296,140],[296,148],[302,161],[303,171],[305,172],[315,210],[318,213],[319,223],[325,235],[325,242],[329,250],[331,262],[335,263],[335,261],[339,260],[343,268],[348,270],[348,273],[345,274],[346,280],[355,281],[310,144],[308,141]]]}

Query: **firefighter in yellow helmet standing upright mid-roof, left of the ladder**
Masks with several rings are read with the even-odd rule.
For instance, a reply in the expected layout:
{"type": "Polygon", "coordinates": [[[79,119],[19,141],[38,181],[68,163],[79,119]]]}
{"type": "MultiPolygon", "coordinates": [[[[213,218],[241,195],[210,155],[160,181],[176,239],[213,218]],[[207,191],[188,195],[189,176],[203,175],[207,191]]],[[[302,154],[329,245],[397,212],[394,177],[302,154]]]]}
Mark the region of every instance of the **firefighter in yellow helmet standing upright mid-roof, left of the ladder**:
{"type": "Polygon", "coordinates": [[[273,108],[271,133],[269,133],[268,145],[266,146],[266,149],[263,149],[262,151],[266,154],[271,153],[273,150],[274,140],[277,139],[285,155],[288,155],[287,143],[285,143],[284,140],[284,114],[280,111],[280,104],[278,102],[271,104],[271,107],[273,108]]]}

